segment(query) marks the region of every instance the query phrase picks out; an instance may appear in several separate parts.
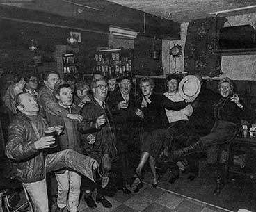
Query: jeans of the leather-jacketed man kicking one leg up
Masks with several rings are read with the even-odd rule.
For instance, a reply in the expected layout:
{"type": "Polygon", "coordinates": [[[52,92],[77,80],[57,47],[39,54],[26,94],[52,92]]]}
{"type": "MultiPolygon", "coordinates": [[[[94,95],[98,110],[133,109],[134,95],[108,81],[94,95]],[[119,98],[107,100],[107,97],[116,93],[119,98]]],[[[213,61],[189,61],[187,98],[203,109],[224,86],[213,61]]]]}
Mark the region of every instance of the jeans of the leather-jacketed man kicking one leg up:
{"type": "MultiPolygon", "coordinates": [[[[95,181],[98,163],[95,159],[79,154],[72,149],[66,149],[45,157],[46,172],[71,168],[92,181],[95,181]]],[[[36,212],[49,212],[46,180],[24,184],[31,198],[31,203],[36,212]]]]}

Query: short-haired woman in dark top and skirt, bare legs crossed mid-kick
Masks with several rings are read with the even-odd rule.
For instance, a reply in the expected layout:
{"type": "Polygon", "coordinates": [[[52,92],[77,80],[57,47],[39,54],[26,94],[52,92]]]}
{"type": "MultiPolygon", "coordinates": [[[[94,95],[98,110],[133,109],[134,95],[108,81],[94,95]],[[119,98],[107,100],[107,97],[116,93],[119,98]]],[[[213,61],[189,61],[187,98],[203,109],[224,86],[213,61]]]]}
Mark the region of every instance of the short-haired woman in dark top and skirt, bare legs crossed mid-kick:
{"type": "Polygon", "coordinates": [[[153,174],[152,186],[157,186],[157,174],[155,169],[156,159],[172,140],[172,134],[168,133],[168,120],[164,108],[179,111],[186,108],[185,101],[174,102],[163,95],[156,95],[152,92],[154,83],[149,77],[143,77],[140,83],[142,95],[136,101],[135,111],[141,117],[141,124],[144,130],[141,161],[136,168],[136,173],[141,177],[141,170],[148,158],[150,158],[150,168],[153,174]]]}

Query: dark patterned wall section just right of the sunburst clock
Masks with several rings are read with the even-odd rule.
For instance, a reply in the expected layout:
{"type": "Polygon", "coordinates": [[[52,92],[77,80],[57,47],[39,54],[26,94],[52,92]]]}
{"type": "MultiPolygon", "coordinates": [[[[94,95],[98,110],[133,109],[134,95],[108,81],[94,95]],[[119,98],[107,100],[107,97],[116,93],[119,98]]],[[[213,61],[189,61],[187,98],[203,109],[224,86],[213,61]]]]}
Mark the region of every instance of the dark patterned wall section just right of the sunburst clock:
{"type": "Polygon", "coordinates": [[[184,72],[201,76],[218,76],[221,72],[221,54],[216,53],[216,40],[224,17],[198,19],[189,22],[184,48],[184,72]]]}

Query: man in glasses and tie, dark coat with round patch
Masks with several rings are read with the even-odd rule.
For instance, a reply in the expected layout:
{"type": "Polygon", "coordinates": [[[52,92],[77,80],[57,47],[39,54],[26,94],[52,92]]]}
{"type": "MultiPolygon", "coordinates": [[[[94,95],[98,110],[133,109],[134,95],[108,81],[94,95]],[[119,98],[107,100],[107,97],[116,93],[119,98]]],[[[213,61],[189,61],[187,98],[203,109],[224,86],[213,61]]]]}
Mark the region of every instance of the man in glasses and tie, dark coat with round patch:
{"type": "Polygon", "coordinates": [[[105,99],[108,95],[108,85],[104,79],[94,79],[91,84],[91,90],[93,98],[83,106],[81,111],[83,121],[79,124],[78,129],[82,133],[83,152],[101,164],[99,175],[102,175],[102,178],[105,178],[106,181],[102,184],[99,184],[99,181],[94,184],[90,179],[84,179],[86,181],[84,199],[90,208],[96,208],[97,205],[91,194],[97,188],[96,202],[102,203],[105,208],[111,208],[111,203],[102,194],[108,182],[111,158],[114,158],[116,155],[113,129],[111,129],[113,122],[109,108],[105,104],[105,99]]]}

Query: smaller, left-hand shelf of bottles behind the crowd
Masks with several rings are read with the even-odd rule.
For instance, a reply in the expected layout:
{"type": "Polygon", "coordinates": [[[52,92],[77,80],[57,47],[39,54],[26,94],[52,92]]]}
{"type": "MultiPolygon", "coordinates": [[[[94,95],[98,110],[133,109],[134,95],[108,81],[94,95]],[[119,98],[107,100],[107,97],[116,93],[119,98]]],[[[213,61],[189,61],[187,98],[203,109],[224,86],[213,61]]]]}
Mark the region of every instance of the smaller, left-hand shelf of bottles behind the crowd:
{"type": "Polygon", "coordinates": [[[63,73],[73,74],[78,69],[78,59],[74,53],[65,53],[62,56],[63,59],[63,73]]]}

